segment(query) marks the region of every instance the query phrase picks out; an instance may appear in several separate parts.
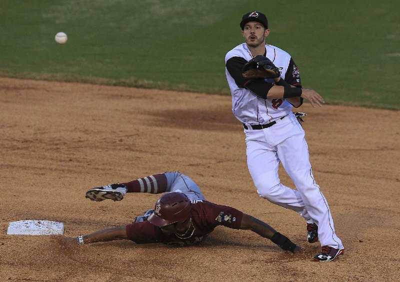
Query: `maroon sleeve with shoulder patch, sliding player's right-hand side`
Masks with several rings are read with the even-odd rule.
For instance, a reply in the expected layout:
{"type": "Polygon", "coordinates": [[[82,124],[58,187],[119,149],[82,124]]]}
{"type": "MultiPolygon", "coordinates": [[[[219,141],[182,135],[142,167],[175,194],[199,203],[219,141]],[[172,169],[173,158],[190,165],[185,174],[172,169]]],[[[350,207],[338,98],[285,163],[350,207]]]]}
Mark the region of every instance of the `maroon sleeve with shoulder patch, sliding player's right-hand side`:
{"type": "Polygon", "coordinates": [[[233,229],[239,229],[243,213],[228,207],[206,202],[204,205],[205,218],[210,226],[223,225],[233,229]]]}

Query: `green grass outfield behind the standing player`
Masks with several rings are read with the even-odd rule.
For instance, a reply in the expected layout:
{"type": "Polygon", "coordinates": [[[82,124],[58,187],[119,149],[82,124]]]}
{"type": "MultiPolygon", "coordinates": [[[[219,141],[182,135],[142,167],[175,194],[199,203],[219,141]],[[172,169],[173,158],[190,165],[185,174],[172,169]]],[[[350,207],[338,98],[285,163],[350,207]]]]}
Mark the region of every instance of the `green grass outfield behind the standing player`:
{"type": "Polygon", "coordinates": [[[400,109],[400,0],[0,0],[0,75],[228,94],[243,13],[267,14],[303,86],[328,103],[400,109]],[[68,42],[54,35],[64,31],[68,42]]]}

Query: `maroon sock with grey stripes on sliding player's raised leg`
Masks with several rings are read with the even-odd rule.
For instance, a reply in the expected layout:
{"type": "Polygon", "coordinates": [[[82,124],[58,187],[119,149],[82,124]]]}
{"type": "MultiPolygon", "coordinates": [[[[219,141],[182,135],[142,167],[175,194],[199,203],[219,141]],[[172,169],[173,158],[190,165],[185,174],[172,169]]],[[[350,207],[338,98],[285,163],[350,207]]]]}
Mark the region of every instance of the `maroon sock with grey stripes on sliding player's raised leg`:
{"type": "Polygon", "coordinates": [[[121,183],[127,188],[127,193],[142,192],[159,194],[166,191],[166,176],[165,174],[150,175],[139,178],[130,182],[121,183]]]}

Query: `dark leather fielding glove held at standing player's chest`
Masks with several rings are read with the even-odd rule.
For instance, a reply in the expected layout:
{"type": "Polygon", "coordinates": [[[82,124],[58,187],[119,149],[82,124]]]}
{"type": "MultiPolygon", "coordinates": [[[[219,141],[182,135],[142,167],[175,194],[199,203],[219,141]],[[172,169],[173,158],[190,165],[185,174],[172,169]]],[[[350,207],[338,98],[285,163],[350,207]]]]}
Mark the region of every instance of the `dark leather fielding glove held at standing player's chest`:
{"type": "Polygon", "coordinates": [[[280,70],[267,57],[257,55],[244,65],[241,75],[245,79],[276,78],[280,70]]]}

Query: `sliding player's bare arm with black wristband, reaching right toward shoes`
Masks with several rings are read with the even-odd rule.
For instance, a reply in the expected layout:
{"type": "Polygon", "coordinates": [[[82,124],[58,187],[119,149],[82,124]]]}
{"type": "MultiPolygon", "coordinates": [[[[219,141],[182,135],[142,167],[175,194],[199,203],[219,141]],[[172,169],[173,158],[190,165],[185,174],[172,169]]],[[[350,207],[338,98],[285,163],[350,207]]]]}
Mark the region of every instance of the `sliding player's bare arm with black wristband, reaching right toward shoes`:
{"type": "Polygon", "coordinates": [[[241,219],[240,229],[251,230],[259,236],[271,240],[285,251],[290,251],[292,253],[301,251],[301,248],[292,243],[287,237],[283,236],[279,232],[276,232],[266,223],[244,213],[241,219]]]}

